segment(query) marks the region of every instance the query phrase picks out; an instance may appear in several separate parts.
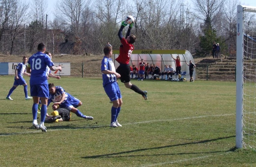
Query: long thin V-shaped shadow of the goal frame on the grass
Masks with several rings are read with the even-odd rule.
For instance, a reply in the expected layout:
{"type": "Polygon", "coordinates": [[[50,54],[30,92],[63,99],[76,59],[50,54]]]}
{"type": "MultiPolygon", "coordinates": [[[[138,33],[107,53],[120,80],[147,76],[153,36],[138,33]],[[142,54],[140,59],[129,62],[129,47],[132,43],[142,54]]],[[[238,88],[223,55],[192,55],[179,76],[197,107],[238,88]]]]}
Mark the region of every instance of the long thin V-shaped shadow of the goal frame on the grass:
{"type": "MultiPolygon", "coordinates": [[[[207,143],[207,142],[212,142],[212,141],[222,140],[222,139],[227,139],[227,138],[234,138],[234,137],[236,137],[236,136],[233,135],[233,136],[229,136],[229,137],[215,138],[215,139],[210,139],[210,140],[189,142],[189,143],[183,143],[183,144],[174,144],[174,145],[167,145],[167,146],[161,146],[161,147],[142,148],[142,149],[136,149],[136,150],[130,150],[130,151],[123,151],[123,152],[118,152],[118,153],[109,153],[109,154],[102,154],[102,155],[85,156],[85,157],[81,157],[81,158],[89,159],[89,158],[106,158],[106,157],[108,157],[108,158],[111,158],[111,157],[113,157],[113,158],[125,157],[125,155],[121,155],[121,154],[134,153],[134,152],[140,152],[140,151],[146,151],[146,150],[169,148],[169,147],[185,146],[185,145],[190,145],[190,144],[201,144],[201,143],[207,143]]],[[[229,151],[233,151],[233,150],[234,149],[231,149],[229,151]]],[[[213,152],[206,152],[206,153],[217,153],[217,152],[223,152],[223,151],[213,151],[213,152]]],[[[202,152],[200,152],[200,153],[202,153],[202,152]]],[[[177,153],[177,154],[187,154],[187,153],[177,153]]],[[[177,155],[177,154],[156,154],[156,155],[177,155]]],[[[143,156],[143,155],[129,155],[129,156],[143,156]]],[[[129,156],[127,156],[127,157],[129,157],[129,156]]]]}

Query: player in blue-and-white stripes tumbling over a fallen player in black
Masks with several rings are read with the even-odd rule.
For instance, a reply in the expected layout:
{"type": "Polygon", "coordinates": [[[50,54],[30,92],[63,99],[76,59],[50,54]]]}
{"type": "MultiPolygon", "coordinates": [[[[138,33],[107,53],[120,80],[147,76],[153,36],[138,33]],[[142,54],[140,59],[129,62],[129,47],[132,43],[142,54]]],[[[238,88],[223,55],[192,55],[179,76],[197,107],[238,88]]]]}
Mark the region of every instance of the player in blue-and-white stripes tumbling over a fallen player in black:
{"type": "Polygon", "coordinates": [[[93,117],[86,116],[77,109],[77,107],[82,105],[82,102],[79,99],[71,96],[69,93],[66,93],[62,87],[60,86],[55,87],[53,83],[49,83],[48,86],[49,86],[50,94],[49,94],[47,106],[49,106],[49,104],[53,102],[54,103],[54,105],[52,106],[53,110],[56,110],[57,106],[59,105],[60,108],[67,108],[72,113],[75,113],[78,117],[81,117],[87,120],[93,120],[93,117]]]}

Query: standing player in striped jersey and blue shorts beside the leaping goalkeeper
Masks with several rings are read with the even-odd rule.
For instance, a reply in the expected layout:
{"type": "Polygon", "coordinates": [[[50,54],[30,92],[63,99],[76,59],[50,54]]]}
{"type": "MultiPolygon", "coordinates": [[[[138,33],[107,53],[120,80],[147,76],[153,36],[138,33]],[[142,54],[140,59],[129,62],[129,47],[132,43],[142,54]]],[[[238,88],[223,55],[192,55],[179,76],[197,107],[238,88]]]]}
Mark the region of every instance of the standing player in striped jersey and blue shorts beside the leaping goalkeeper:
{"type": "Polygon", "coordinates": [[[104,57],[101,62],[101,71],[102,71],[102,79],[103,79],[103,87],[108,95],[110,101],[112,102],[111,108],[111,122],[110,127],[118,127],[122,126],[117,122],[117,117],[121,110],[122,105],[122,95],[117,84],[117,78],[120,78],[120,74],[118,74],[115,70],[114,63],[110,57],[112,56],[112,47],[108,43],[104,48],[104,57]]]}

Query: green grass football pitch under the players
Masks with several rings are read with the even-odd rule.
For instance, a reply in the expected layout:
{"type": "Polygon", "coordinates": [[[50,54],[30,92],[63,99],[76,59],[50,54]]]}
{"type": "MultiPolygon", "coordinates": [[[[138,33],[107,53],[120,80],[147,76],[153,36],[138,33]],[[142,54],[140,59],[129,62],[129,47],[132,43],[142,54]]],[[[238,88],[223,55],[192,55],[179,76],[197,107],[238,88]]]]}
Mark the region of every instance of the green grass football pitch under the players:
{"type": "Polygon", "coordinates": [[[123,127],[110,128],[112,105],[102,79],[50,78],[80,99],[78,109],[94,120],[72,114],[69,122],[45,123],[43,133],[32,129],[33,101],[25,100],[23,86],[13,101],[5,100],[13,81],[0,76],[0,166],[256,165],[256,151],[234,149],[235,82],[132,80],[148,91],[147,101],[119,82],[123,127]]]}

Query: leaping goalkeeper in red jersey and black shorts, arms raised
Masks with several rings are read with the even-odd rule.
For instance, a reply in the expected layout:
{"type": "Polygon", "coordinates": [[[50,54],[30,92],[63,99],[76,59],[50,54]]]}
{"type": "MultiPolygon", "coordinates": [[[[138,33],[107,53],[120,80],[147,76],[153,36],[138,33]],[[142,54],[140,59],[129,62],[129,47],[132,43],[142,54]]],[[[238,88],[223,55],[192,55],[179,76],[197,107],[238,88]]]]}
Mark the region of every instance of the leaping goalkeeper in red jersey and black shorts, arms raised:
{"type": "Polygon", "coordinates": [[[127,26],[127,24],[125,23],[125,21],[122,21],[122,25],[118,31],[118,37],[121,41],[121,45],[120,45],[120,49],[119,49],[119,56],[116,58],[116,61],[119,62],[119,66],[116,69],[116,72],[118,74],[120,74],[120,80],[121,82],[124,83],[126,88],[129,88],[133,91],[135,91],[136,93],[139,93],[143,96],[143,98],[145,100],[148,99],[147,96],[147,91],[142,91],[140,90],[136,85],[131,84],[130,82],[130,65],[129,65],[129,61],[130,61],[130,56],[132,54],[132,51],[134,49],[133,47],[133,43],[136,41],[136,36],[131,33],[131,29],[133,27],[133,23],[131,23],[129,25],[129,28],[127,30],[126,36],[125,38],[123,37],[123,28],[125,26],[127,26]]]}

